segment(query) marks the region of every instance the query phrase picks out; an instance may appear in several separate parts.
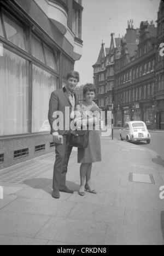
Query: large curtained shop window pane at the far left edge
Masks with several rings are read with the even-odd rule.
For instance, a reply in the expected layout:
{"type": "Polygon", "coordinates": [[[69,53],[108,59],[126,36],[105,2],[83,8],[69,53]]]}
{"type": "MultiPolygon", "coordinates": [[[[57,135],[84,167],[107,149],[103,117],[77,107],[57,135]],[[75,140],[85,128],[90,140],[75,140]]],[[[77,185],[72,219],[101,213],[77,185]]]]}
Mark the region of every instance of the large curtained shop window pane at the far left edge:
{"type": "Polygon", "coordinates": [[[4,49],[0,77],[0,136],[27,133],[28,62],[4,49]]]}

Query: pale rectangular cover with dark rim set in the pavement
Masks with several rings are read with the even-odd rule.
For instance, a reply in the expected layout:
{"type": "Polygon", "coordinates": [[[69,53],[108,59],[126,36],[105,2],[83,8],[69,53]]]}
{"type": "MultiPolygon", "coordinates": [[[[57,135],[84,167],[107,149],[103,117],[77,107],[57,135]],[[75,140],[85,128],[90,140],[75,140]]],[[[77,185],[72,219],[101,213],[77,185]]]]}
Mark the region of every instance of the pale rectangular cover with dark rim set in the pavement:
{"type": "Polygon", "coordinates": [[[130,172],[128,180],[131,182],[155,184],[155,180],[152,174],[139,174],[136,172],[130,172]]]}

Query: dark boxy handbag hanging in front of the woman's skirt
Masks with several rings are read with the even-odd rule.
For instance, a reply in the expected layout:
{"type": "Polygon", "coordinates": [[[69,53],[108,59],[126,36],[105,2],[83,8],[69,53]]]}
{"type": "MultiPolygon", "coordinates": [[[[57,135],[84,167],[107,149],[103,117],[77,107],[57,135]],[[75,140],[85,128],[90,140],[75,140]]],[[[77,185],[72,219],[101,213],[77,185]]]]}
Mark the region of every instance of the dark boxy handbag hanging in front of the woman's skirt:
{"type": "Polygon", "coordinates": [[[87,148],[89,141],[89,130],[71,131],[69,145],[78,148],[87,148]]]}

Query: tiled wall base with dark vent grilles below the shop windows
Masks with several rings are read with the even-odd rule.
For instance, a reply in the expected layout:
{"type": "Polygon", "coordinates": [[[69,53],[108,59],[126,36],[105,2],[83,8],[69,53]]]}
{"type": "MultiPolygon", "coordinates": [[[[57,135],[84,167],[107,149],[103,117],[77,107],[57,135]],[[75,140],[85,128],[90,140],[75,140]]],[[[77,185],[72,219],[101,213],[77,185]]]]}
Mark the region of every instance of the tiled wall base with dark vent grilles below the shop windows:
{"type": "Polygon", "coordinates": [[[0,139],[0,170],[50,152],[55,154],[50,134],[0,139]]]}

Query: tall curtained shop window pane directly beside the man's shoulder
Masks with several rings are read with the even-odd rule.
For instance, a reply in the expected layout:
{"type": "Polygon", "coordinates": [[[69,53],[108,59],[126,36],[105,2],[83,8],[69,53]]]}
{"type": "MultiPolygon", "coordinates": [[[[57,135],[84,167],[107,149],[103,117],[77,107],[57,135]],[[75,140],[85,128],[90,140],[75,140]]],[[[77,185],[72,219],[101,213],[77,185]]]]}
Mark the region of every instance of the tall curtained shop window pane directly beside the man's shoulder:
{"type": "Polygon", "coordinates": [[[33,65],[32,132],[49,131],[48,106],[51,92],[57,88],[57,78],[33,65]]]}

